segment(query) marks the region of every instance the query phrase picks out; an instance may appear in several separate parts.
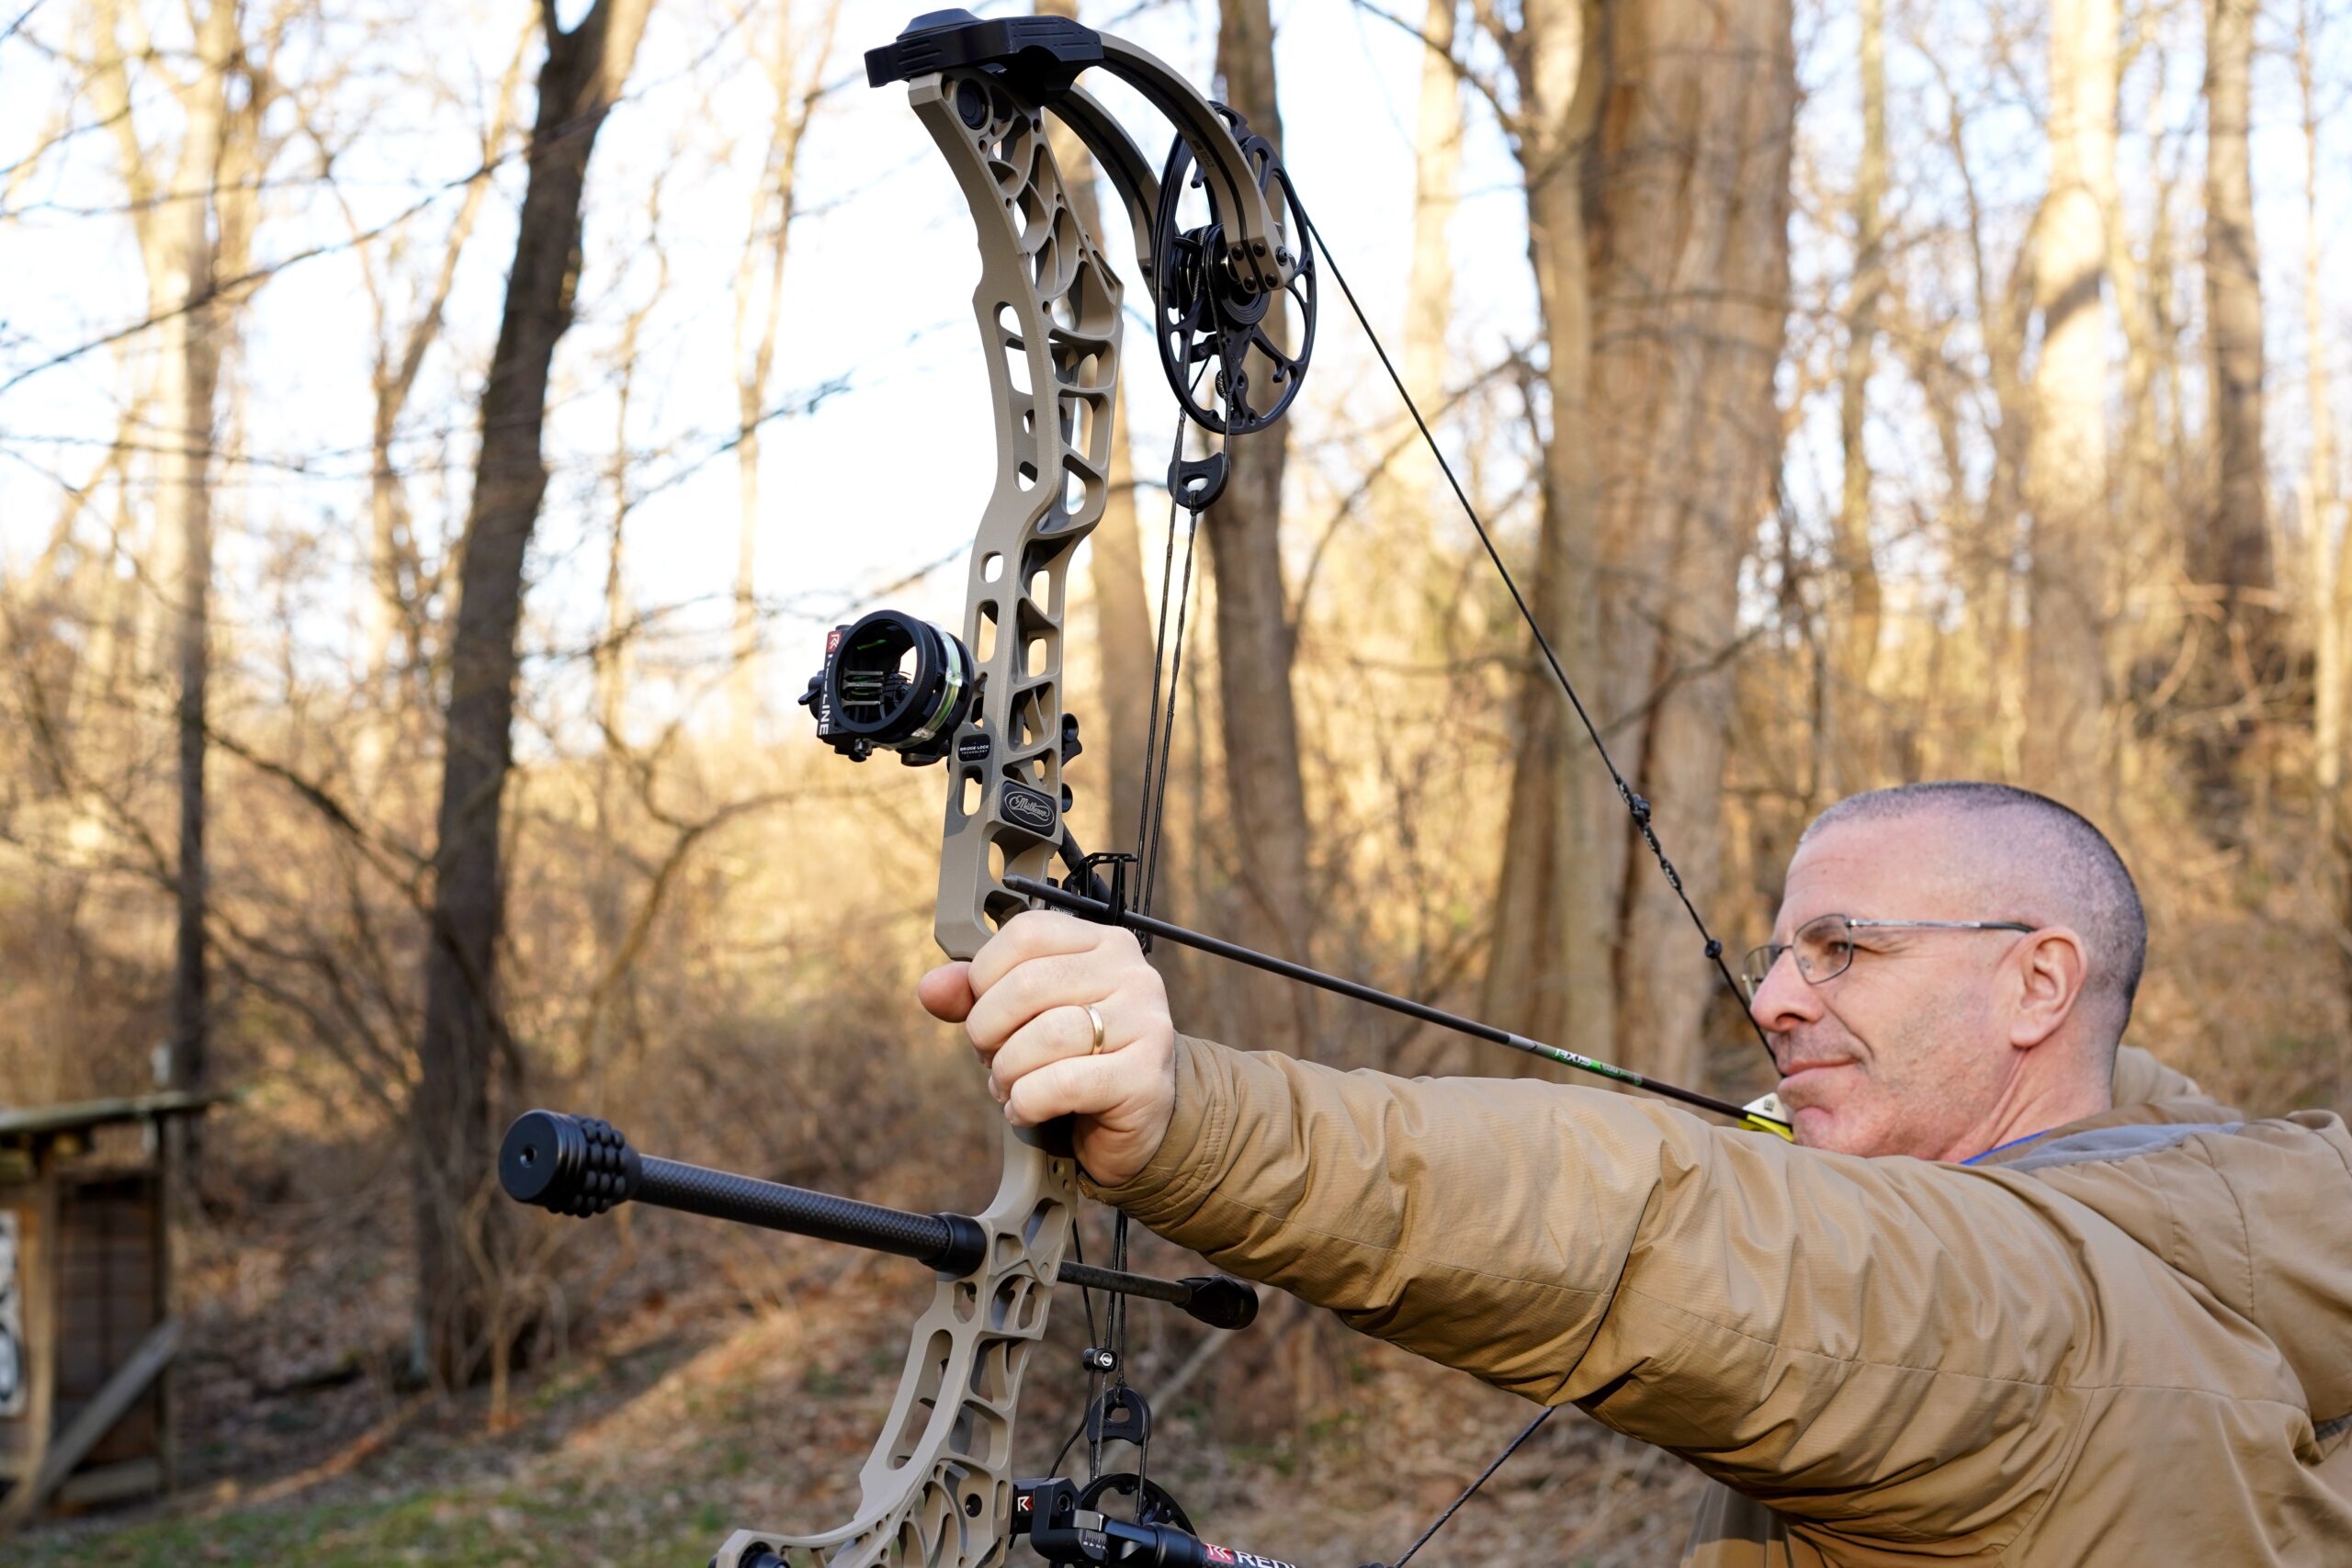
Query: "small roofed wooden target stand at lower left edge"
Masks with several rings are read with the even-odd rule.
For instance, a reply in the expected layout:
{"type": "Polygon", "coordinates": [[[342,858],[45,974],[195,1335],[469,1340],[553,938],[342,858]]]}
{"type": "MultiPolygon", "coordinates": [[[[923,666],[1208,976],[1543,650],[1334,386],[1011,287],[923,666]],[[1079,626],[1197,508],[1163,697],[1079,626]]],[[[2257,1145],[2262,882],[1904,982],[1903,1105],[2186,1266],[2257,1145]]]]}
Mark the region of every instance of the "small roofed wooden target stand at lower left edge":
{"type": "Polygon", "coordinates": [[[223,1098],[0,1110],[0,1533],[172,1488],[169,1124],[223,1098]]]}

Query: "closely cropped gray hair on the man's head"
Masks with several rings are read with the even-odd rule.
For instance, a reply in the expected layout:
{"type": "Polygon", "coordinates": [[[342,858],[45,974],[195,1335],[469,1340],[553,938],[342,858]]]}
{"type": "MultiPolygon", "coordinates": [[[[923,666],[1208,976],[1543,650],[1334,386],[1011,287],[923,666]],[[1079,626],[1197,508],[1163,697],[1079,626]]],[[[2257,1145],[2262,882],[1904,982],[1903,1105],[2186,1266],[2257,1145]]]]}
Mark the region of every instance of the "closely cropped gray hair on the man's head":
{"type": "Polygon", "coordinates": [[[1799,849],[1839,825],[1910,818],[1936,820],[1952,851],[1943,872],[1969,884],[1987,917],[2074,929],[2086,1032],[2119,1041],[2147,961],[2147,914],[2107,835],[2046,795],[1952,780],[1851,795],[1813,818],[1799,849]]]}

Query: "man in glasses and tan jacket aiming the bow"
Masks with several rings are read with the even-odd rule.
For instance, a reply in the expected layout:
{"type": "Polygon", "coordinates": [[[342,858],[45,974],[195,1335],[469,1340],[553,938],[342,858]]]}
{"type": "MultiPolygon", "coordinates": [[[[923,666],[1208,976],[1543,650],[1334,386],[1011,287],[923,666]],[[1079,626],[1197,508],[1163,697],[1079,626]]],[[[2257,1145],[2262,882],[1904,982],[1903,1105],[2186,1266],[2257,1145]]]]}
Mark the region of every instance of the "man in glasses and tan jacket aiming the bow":
{"type": "Polygon", "coordinates": [[[1715,1476],[1691,1568],[2352,1563],[2352,1135],[2119,1072],[2143,952],[2056,802],[1832,806],[1748,961],[1802,1147],[1181,1039],[1058,914],[922,999],[1089,1192],[1715,1476]]]}

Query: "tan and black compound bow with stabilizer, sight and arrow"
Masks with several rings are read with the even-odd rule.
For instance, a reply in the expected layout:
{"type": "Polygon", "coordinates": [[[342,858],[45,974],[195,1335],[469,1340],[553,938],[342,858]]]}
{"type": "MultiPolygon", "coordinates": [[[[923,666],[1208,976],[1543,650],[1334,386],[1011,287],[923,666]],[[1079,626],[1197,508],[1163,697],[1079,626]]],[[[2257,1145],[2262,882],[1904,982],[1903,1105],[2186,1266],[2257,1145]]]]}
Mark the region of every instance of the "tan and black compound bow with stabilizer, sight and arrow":
{"type": "MultiPolygon", "coordinates": [[[[981,21],[969,12],[934,12],[908,24],[896,42],[868,52],[866,75],[875,87],[906,82],[908,101],[971,207],[981,249],[971,303],[988,360],[997,475],[971,550],[962,637],[898,611],[875,611],[835,628],[826,668],[802,701],[814,710],[818,736],[851,759],[894,750],[908,764],[948,764],[934,924],[948,957],[969,959],[1021,910],[1058,903],[1785,1135],[1785,1124],[1762,1103],[1738,1107],[1646,1084],[1606,1063],[1155,922],[1127,900],[1127,872],[1138,870],[1141,903],[1148,905],[1157,832],[1141,825],[1141,865],[1138,856],[1089,858],[1077,851],[1063,823],[1070,797],[1061,769],[1077,755],[1077,722],[1061,689],[1063,616],[1070,559],[1101,522],[1110,494],[1122,289],[1073,207],[1049,148],[1047,115],[1087,146],[1134,226],[1160,362],[1183,409],[1169,491],[1195,527],[1225,484],[1225,458],[1221,451],[1185,458],[1183,423],[1209,435],[1240,435],[1265,428],[1289,409],[1315,343],[1317,240],[1263,136],[1143,49],[1077,21],[981,21]],[[1176,141],[1157,176],[1117,120],[1075,85],[1089,68],[1124,80],[1174,125],[1176,141]],[[1204,193],[1207,221],[1188,221],[1200,212],[1185,205],[1185,190],[1204,193]],[[1065,867],[1058,886],[1047,875],[1056,860],[1065,867]]],[[[1418,411],[1414,418],[1418,423],[1418,411]]],[[[1468,501],[1463,505],[1468,510],[1468,501]]],[[[1479,536],[1486,536],[1484,527],[1479,536]]],[[[1486,548],[1494,552],[1491,541],[1486,548]]],[[[1174,510],[1169,550],[1174,559],[1174,510]]],[[[1501,557],[1496,567],[1503,567],[1501,557]]],[[[1190,583],[1190,548],[1183,583],[1190,583]]],[[[1181,604],[1176,623],[1181,658],[1181,604]]],[[[1534,616],[1529,625],[1566,689],[1566,675],[1534,616]]],[[[1174,703],[1174,675],[1169,693],[1174,703]]],[[[1569,698],[1573,703],[1573,689],[1569,698]]],[[[1167,731],[1157,675],[1152,701],[1162,764],[1157,788],[1164,790],[1167,731]]],[[[1583,705],[1576,710],[1583,717],[1583,705]]],[[[1592,741],[1599,745],[1597,733],[1592,741]]],[[[1606,748],[1602,757],[1606,762],[1606,748]]],[[[1646,804],[1613,764],[1609,771],[1635,825],[1658,851],[1646,804]]],[[[1145,799],[1152,797],[1148,780],[1145,799]]],[[[1658,863],[1679,891],[1663,853],[1658,863]]],[[[1722,971],[1722,945],[1696,910],[1691,919],[1722,971]]],[[[1200,1542],[1183,1509],[1141,1474],[1141,1460],[1134,1474],[1101,1474],[1103,1439],[1141,1443],[1150,1425],[1141,1396],[1117,1375],[1124,1298],[1145,1295],[1178,1305],[1204,1324],[1240,1328],[1254,1319],[1256,1295],[1223,1276],[1157,1281],[1082,1262],[1073,1234],[1077,1171],[1068,1150],[1054,1145],[1051,1128],[1007,1131],[1002,1180],[978,1215],[889,1211],[652,1159],[602,1121],[553,1112],[517,1119],[499,1164],[515,1199],[557,1213],[602,1213],[635,1199],[903,1253],[938,1269],[931,1305],[915,1321],[889,1420],[858,1474],[861,1497],[849,1523],[818,1535],[739,1528],[713,1556],[713,1568],[983,1568],[1004,1563],[1016,1535],[1056,1563],[1268,1561],[1200,1542]],[[1021,1375],[1044,1335],[1056,1284],[1103,1288],[1115,1302],[1112,1342],[1087,1352],[1089,1371],[1112,1382],[1098,1392],[1082,1427],[1094,1439],[1096,1472],[1084,1486],[1058,1476],[1018,1481],[1014,1472],[1021,1375]],[[1131,1519],[1112,1516],[1115,1497],[1131,1500],[1131,1519]]],[[[1124,1215],[1120,1222],[1122,1244],[1112,1265],[1124,1265],[1124,1215]]],[[[1148,1448],[1141,1453],[1148,1455],[1148,1448]]]]}

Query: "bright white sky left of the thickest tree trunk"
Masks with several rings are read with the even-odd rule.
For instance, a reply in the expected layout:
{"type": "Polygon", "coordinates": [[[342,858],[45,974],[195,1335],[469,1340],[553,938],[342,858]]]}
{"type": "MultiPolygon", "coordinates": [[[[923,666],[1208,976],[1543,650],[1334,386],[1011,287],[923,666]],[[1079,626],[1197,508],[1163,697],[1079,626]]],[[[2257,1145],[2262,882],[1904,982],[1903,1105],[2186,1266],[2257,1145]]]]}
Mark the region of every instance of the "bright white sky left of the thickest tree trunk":
{"type": "MultiPolygon", "coordinates": [[[[47,45],[66,45],[64,0],[47,45]]],[[[776,637],[814,651],[818,628],[875,583],[955,555],[971,538],[993,473],[985,378],[971,324],[976,280],[971,226],[955,183],[906,103],[903,87],[868,89],[861,52],[906,24],[908,0],[847,0],[828,78],[849,80],[818,110],[802,179],[804,216],[793,230],[786,329],[771,402],[844,381],[847,395],[769,425],[762,470],[760,595],[786,607],[776,637]]],[[[720,451],[734,425],[734,273],[748,219],[748,176],[767,132],[767,87],[748,47],[764,47],[769,14],[739,21],[727,0],[659,0],[654,26],[621,106],[597,143],[588,216],[590,266],[581,315],[557,357],[550,418],[548,515],[539,536],[539,642],[579,644],[595,632],[602,550],[609,529],[604,470],[614,451],[614,341],[621,320],[654,287],[647,202],[659,183],[659,247],[668,294],[647,320],[644,362],[633,393],[628,440],[642,456],[637,487],[654,489],[633,512],[630,581],[640,607],[708,602],[684,623],[717,625],[734,576],[736,461],[720,451]],[[757,35],[755,35],[757,33],[757,35]],[[659,489],[656,489],[659,487],[659,489]]],[[[811,9],[811,7],[802,7],[811,9]]],[[[447,26],[376,31],[336,24],[292,71],[327,54],[358,61],[360,82],[327,103],[343,200],[360,226],[376,226],[473,160],[470,125],[513,49],[520,7],[447,16],[447,26]],[[456,42],[459,49],[449,45],[456,42]],[[437,73],[433,103],[402,73],[437,73]],[[360,129],[365,120],[367,129],[360,129]]],[[[1127,35],[1207,80],[1214,19],[1152,9],[1122,24],[1127,35]]],[[[1409,120],[1418,92],[1418,45],[1334,0],[1284,16],[1282,94],[1289,160],[1317,223],[1338,247],[1352,282],[1395,336],[1411,216],[1409,120]]],[[[536,52],[532,56],[536,66],[536,52]]],[[[14,160],[47,125],[38,54],[0,45],[9,87],[0,92],[0,158],[14,160]],[[26,89],[19,92],[16,85],[26,89]]],[[[1136,141],[1157,160],[1169,132],[1120,82],[1091,82],[1112,101],[1136,141]]],[[[153,96],[153,94],[151,94],[153,96]]],[[[52,99],[54,101],[54,99],[52,99]]],[[[148,110],[158,106],[146,103],[148,110]]],[[[522,113],[529,113],[524,94],[522,113]]],[[[75,125],[87,108],[75,108],[75,125]]],[[[155,115],[160,134],[172,122],[155,115]]],[[[318,146],[296,134],[280,179],[308,176],[318,146]]],[[[1458,223],[1463,353],[1494,353],[1505,331],[1524,331],[1529,282],[1508,153],[1491,129],[1475,134],[1468,200],[1458,223]]],[[[520,169],[501,172],[501,195],[468,252],[452,306],[452,329],[412,407],[402,465],[419,473],[421,524],[454,527],[470,463],[470,395],[496,331],[499,287],[513,240],[520,169]],[[454,425],[454,428],[449,428],[454,425]],[[447,482],[445,482],[445,477],[447,482]],[[447,517],[442,517],[447,512],[447,517]]],[[[1105,190],[1108,193],[1108,190],[1105,190]]],[[[115,207],[120,181],[106,132],[82,134],[47,160],[16,195],[16,221],[0,226],[0,273],[9,284],[0,381],[28,362],[134,322],[143,284],[127,226],[85,216],[115,207]]],[[[437,256],[456,195],[435,200],[402,233],[405,273],[437,256]]],[[[1108,247],[1134,277],[1124,223],[1108,247]]],[[[343,212],[315,183],[273,195],[261,256],[282,259],[348,235],[343,212]]],[[[414,284],[412,284],[414,287],[414,284]]],[[[1129,284],[1131,299],[1141,289],[1129,284]]],[[[1338,320],[1329,292],[1324,346],[1301,425],[1362,386],[1362,336],[1338,320]]],[[[223,444],[252,461],[223,465],[228,614],[275,614],[254,597],[273,538],[318,534],[327,559],[303,616],[313,654],[350,654],[348,595],[365,550],[369,315],[350,254],[282,270],[247,315],[240,409],[223,444]],[[238,588],[247,592],[240,595],[238,588]]],[[[143,339],[132,339],[129,355],[143,339]]],[[[1127,395],[1138,454],[1160,454],[1171,404],[1152,341],[1131,322],[1127,395]]],[[[21,562],[40,548],[61,498],[59,480],[80,482],[113,433],[129,367],[115,350],[31,376],[0,395],[0,548],[21,562]]],[[[1155,470],[1157,456],[1138,458],[1155,470]]],[[[96,522],[103,529],[103,520],[96,522]]],[[[101,531],[92,538],[103,538],[101,531]]],[[[953,614],[962,592],[957,562],[931,578],[934,609],[953,614]]],[[[922,597],[922,595],[917,595],[922,597]]],[[[790,661],[786,661],[790,663],[790,661]]],[[[795,665],[797,668],[797,665],[795,665]]]]}

